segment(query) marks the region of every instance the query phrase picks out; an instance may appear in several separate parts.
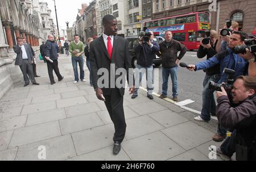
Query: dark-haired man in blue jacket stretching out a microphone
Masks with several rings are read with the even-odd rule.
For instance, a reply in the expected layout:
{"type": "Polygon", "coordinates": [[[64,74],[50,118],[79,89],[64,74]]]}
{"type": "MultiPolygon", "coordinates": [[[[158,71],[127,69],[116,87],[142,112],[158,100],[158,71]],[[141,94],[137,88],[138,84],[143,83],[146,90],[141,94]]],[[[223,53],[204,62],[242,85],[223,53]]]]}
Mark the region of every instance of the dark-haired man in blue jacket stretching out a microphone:
{"type": "MultiPolygon", "coordinates": [[[[247,73],[247,62],[243,60],[242,57],[238,56],[238,54],[233,53],[233,48],[237,45],[242,45],[244,40],[246,39],[247,34],[240,31],[234,31],[230,42],[229,47],[217,53],[212,58],[209,58],[206,61],[199,62],[196,65],[188,65],[188,70],[202,70],[208,69],[216,64],[220,64],[220,72],[221,77],[218,83],[225,82],[228,79],[228,74],[223,73],[225,68],[232,69],[235,71],[234,77],[238,75],[245,75],[247,73]]],[[[217,134],[213,136],[214,141],[222,141],[226,137],[226,128],[222,127],[220,124],[218,125],[217,134]]]]}

